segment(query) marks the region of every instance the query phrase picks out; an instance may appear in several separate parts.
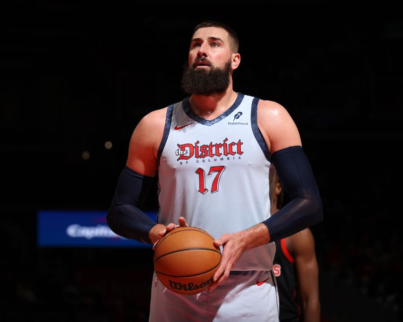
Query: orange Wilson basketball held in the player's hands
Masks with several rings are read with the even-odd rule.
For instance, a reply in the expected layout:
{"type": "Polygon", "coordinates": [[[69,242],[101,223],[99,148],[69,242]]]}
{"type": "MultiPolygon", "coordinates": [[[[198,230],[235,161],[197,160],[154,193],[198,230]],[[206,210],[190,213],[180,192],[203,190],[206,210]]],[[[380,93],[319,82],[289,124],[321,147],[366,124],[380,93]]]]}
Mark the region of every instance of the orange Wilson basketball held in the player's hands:
{"type": "Polygon", "coordinates": [[[221,251],[214,238],[196,227],[178,227],[157,243],[154,270],[161,283],[173,292],[185,295],[204,291],[213,283],[221,263],[221,251]]]}

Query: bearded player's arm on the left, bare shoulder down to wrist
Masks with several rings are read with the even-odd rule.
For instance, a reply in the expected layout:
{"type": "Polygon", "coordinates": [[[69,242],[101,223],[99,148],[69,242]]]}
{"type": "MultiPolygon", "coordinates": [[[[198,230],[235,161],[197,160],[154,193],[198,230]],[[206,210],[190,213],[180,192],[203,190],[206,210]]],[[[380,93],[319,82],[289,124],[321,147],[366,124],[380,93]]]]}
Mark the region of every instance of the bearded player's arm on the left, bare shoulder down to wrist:
{"type": "Polygon", "coordinates": [[[107,215],[109,227],[126,238],[154,244],[165,225],[153,222],[140,207],[157,172],[157,153],[165,125],[166,109],[146,115],[130,139],[123,169],[107,215]]]}

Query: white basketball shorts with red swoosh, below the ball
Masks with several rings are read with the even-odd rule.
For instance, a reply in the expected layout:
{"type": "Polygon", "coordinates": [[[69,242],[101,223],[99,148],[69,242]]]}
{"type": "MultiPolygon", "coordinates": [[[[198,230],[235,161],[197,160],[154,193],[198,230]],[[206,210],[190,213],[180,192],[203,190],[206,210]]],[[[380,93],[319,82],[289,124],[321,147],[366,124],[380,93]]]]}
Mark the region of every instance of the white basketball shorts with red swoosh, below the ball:
{"type": "Polygon", "coordinates": [[[154,273],[150,322],[279,322],[279,295],[272,271],[233,271],[213,292],[181,295],[154,273]]]}

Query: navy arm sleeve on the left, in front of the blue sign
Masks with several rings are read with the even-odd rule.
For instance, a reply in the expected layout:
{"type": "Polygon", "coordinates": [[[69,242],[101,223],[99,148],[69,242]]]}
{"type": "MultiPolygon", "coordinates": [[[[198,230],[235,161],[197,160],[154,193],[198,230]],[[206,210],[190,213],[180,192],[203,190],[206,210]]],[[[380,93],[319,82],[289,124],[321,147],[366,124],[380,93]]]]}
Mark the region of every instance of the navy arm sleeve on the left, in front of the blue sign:
{"type": "Polygon", "coordinates": [[[127,166],[122,170],[106,216],[116,234],[151,244],[149,232],[157,223],[140,210],[150,190],[152,177],[138,174],[127,166]]]}

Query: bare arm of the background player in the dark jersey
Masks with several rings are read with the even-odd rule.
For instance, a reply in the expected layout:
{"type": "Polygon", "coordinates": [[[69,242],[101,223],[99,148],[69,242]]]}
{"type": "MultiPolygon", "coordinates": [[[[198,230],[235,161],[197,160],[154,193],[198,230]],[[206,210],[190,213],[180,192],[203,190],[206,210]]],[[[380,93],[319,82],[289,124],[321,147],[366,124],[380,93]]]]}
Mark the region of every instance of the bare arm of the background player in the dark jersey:
{"type": "Polygon", "coordinates": [[[315,241],[309,228],[287,238],[287,248],[293,253],[302,300],[304,321],[320,321],[318,264],[315,241]]]}

